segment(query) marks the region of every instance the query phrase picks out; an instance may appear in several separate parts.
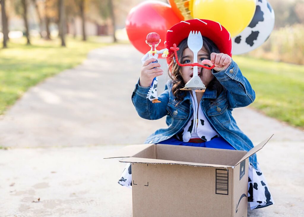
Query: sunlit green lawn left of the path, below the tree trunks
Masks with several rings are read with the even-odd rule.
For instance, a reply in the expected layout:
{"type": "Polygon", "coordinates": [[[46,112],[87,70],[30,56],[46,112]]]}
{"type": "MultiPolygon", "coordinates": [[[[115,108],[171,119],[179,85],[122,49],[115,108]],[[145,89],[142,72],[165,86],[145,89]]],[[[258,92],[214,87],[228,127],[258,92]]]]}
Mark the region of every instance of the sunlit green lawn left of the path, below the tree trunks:
{"type": "Polygon", "coordinates": [[[62,70],[80,64],[88,51],[105,46],[98,37],[67,38],[67,47],[60,46],[59,39],[45,41],[32,38],[10,39],[7,49],[0,49],[0,115],[22,96],[29,87],[62,70]]]}

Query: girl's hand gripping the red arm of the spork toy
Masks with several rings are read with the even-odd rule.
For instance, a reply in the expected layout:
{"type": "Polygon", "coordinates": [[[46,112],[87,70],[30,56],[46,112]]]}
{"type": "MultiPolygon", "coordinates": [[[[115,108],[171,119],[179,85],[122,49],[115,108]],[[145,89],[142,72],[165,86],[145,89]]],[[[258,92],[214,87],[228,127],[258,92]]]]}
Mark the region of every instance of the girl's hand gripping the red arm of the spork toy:
{"type": "Polygon", "coordinates": [[[225,53],[211,53],[210,59],[211,60],[204,59],[202,61],[202,65],[207,64],[209,66],[213,66],[214,64],[215,67],[213,69],[216,70],[217,72],[226,70],[230,66],[230,63],[232,62],[231,57],[225,53]]]}

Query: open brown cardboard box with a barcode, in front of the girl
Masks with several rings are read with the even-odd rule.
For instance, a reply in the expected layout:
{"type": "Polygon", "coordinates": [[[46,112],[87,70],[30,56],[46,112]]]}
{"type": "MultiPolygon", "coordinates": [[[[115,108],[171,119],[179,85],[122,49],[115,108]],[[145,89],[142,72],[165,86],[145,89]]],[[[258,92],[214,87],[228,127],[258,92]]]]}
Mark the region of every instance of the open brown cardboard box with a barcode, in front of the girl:
{"type": "MultiPolygon", "coordinates": [[[[272,136],[271,136],[272,137],[272,136]]],[[[247,216],[248,158],[271,138],[246,151],[130,145],[107,158],[132,163],[134,217],[247,216]]]]}

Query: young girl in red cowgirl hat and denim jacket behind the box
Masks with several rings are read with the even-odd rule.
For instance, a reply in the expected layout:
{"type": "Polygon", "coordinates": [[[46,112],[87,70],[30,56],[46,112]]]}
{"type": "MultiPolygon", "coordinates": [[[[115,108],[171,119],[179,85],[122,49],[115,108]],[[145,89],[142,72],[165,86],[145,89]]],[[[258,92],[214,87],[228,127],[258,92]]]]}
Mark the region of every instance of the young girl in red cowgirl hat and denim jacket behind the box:
{"type": "MultiPolygon", "coordinates": [[[[167,58],[171,72],[164,92],[158,96],[161,103],[147,100],[147,92],[155,76],[163,74],[159,63],[153,58],[143,63],[140,79],[132,94],[132,101],[139,116],[156,120],[167,116],[167,129],[159,129],[145,143],[186,145],[249,151],[253,146],[250,139],[239,129],[232,117],[232,110],[245,107],[255,99],[248,80],[242,75],[237,63],[231,59],[229,32],[217,22],[193,19],[182,21],[168,30],[166,47],[171,51],[167,58]],[[205,92],[180,90],[193,76],[193,53],[187,46],[190,31],[200,31],[203,46],[197,59],[202,65],[215,67],[212,70],[199,67],[198,74],[206,86],[205,92]],[[178,44],[178,61],[170,47],[178,44]]],[[[250,209],[273,204],[267,182],[257,163],[256,154],[249,158],[248,202],[250,209]]],[[[121,185],[131,187],[131,164],[127,164],[121,185]]]]}

